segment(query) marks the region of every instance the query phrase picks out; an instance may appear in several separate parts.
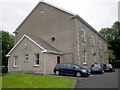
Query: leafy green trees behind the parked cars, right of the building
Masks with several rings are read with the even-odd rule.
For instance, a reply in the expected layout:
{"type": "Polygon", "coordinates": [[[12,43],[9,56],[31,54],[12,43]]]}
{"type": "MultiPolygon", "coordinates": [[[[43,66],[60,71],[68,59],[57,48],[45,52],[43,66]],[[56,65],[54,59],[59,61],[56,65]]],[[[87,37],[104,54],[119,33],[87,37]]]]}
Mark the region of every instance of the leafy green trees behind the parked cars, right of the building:
{"type": "Polygon", "coordinates": [[[111,28],[103,28],[99,33],[107,39],[109,58],[120,60],[120,22],[116,21],[111,28]]]}

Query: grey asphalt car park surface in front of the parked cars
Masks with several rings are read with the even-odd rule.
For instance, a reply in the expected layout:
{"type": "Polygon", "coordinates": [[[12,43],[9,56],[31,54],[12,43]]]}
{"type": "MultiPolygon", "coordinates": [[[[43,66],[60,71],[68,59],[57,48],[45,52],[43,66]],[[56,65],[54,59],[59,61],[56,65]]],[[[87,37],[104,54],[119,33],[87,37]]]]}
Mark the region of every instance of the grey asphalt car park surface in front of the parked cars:
{"type": "Polygon", "coordinates": [[[77,78],[75,88],[118,88],[118,70],[104,74],[91,74],[88,78],[77,78]]]}

